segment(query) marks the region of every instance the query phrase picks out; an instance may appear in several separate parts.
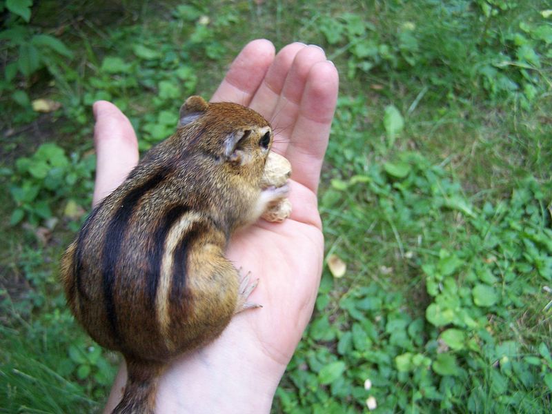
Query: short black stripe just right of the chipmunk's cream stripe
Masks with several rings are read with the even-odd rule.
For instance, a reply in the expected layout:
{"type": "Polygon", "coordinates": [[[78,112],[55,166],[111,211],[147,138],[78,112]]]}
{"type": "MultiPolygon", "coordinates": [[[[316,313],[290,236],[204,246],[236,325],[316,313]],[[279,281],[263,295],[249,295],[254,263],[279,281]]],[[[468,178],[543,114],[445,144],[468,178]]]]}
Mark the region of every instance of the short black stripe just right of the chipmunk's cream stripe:
{"type": "Polygon", "coordinates": [[[206,233],[207,228],[206,223],[196,221],[193,226],[188,228],[186,237],[182,237],[175,247],[175,256],[172,261],[172,285],[170,287],[171,303],[182,302],[186,297],[186,278],[188,277],[186,264],[188,263],[189,249],[199,235],[206,233]]]}

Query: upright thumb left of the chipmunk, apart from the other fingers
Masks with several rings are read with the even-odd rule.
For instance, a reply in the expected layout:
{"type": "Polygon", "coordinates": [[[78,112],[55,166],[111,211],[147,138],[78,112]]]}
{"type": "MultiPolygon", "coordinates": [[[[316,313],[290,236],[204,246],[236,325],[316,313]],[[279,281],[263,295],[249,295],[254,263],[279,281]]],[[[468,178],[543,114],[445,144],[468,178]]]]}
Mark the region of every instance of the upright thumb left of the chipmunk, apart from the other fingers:
{"type": "Polygon", "coordinates": [[[138,143],[130,121],[108,101],[94,103],[96,181],[92,204],[96,205],[124,181],[138,162],[138,143]]]}

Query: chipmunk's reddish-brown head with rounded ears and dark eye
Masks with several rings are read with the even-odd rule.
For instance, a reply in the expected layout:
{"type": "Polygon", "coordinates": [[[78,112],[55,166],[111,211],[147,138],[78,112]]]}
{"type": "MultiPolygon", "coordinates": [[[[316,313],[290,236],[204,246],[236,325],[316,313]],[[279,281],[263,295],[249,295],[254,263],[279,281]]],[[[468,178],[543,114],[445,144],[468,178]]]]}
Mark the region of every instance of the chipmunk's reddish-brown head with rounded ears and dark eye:
{"type": "Polygon", "coordinates": [[[273,143],[270,124],[254,110],[237,103],[207,103],[198,96],[181,106],[178,135],[188,148],[259,177],[273,143]]]}

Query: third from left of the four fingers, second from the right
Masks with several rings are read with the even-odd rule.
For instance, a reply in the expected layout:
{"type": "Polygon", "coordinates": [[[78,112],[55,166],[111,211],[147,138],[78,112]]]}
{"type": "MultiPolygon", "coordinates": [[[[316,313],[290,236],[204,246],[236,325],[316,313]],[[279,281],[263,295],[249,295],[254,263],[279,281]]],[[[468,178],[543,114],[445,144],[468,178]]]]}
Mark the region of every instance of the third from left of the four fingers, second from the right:
{"type": "Polygon", "coordinates": [[[324,50],[318,46],[307,46],[297,52],[279,99],[270,115],[270,123],[275,130],[274,150],[284,154],[290,141],[293,126],[299,115],[299,106],[311,68],[326,61],[324,50]]]}

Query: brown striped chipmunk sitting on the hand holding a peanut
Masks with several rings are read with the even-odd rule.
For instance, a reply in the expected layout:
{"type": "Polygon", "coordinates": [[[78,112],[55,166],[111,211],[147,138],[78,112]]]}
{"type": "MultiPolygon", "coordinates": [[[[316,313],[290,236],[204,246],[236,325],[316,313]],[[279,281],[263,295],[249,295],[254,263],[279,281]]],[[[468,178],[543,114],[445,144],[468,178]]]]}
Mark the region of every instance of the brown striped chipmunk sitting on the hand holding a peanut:
{"type": "Polygon", "coordinates": [[[257,282],[224,251],[237,228],[286,197],[286,185],[262,189],[272,143],[257,112],[186,99],[175,135],[92,210],[64,253],[72,312],[96,342],[126,359],[128,380],[113,413],[153,413],[168,362],[259,306],[247,302],[257,282]]]}

